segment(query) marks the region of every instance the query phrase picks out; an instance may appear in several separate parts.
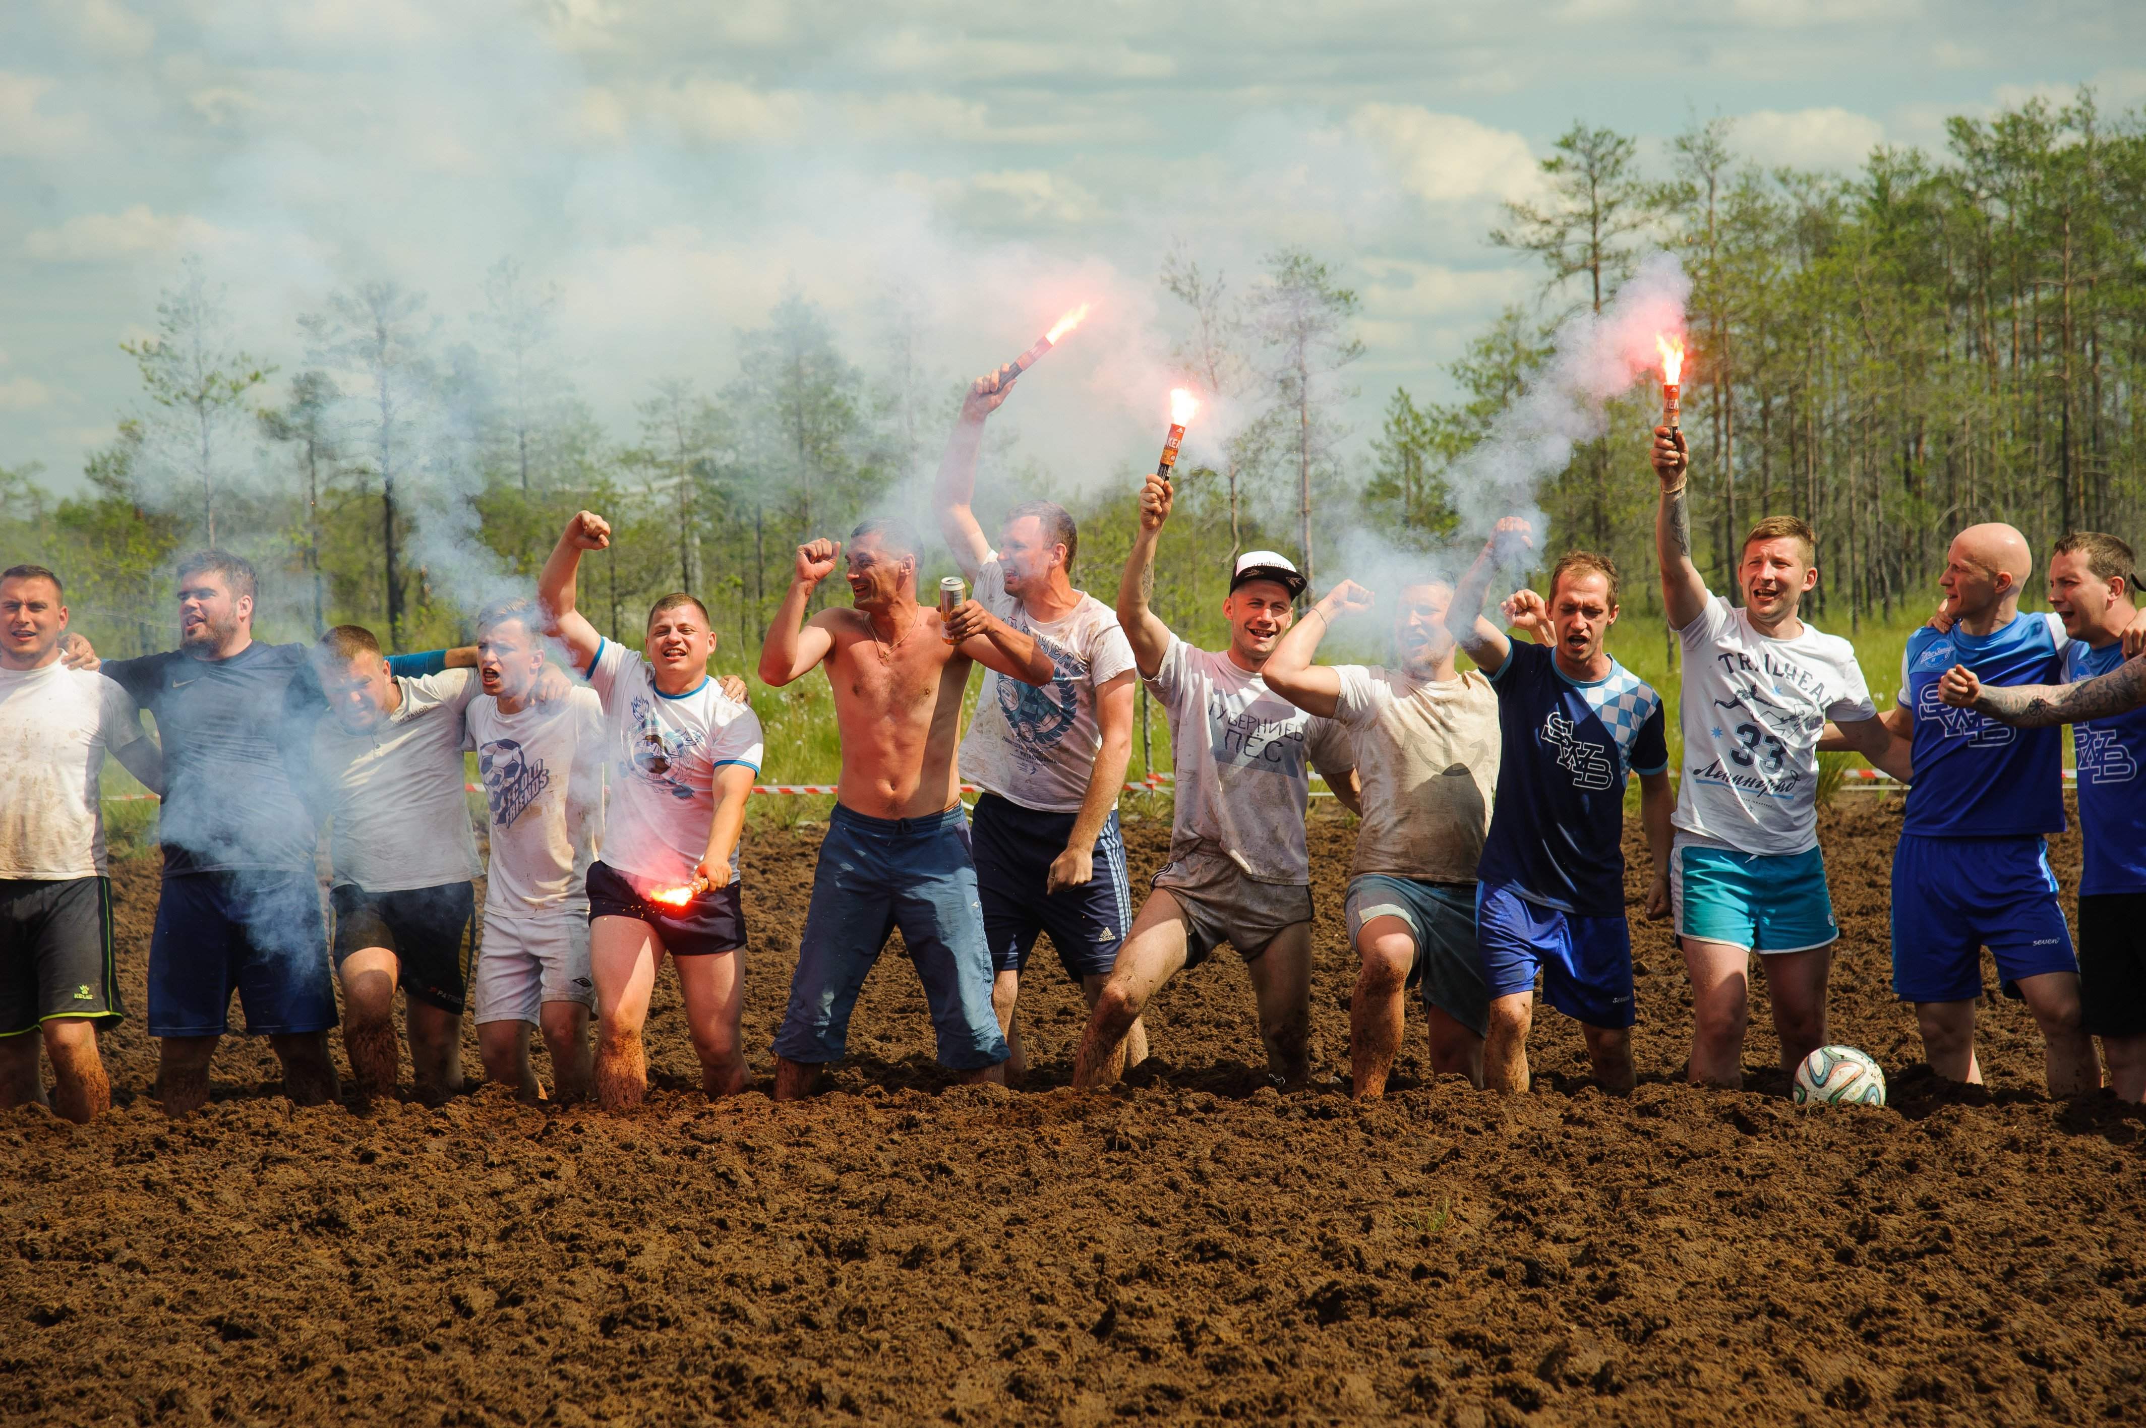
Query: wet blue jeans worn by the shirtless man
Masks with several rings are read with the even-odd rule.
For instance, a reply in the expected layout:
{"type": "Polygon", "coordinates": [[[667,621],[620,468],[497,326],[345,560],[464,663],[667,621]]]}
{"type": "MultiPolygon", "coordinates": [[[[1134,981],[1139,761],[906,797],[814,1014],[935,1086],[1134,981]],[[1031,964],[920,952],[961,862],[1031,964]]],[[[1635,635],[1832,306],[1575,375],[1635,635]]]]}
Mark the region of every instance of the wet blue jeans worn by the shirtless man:
{"type": "Polygon", "coordinates": [[[955,805],[929,818],[871,818],[841,803],[820,840],[777,1057],[841,1059],[856,994],[895,928],[925,986],[940,1065],[974,1072],[1006,1059],[991,1009],[968,816],[955,805]]]}

